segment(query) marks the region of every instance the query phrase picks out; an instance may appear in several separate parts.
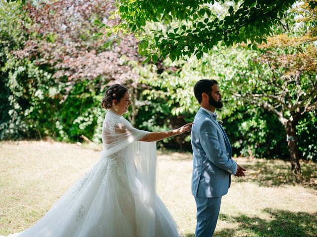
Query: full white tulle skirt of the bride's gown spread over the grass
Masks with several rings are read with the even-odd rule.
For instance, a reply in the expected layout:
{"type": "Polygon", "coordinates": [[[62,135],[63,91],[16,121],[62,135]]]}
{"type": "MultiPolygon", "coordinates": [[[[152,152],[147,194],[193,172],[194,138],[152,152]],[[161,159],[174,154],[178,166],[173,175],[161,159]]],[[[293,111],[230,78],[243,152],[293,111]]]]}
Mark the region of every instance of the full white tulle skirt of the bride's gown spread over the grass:
{"type": "Polygon", "coordinates": [[[147,197],[126,163],[122,154],[101,158],[34,226],[10,237],[178,237],[159,196],[147,197]]]}

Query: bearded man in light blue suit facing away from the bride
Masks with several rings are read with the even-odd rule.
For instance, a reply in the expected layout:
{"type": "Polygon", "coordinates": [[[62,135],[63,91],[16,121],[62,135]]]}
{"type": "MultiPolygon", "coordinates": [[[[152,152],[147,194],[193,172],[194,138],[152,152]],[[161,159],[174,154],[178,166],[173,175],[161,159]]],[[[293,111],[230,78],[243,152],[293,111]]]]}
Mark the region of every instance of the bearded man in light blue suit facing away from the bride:
{"type": "Polygon", "coordinates": [[[193,176],[192,194],[197,206],[195,237],[212,237],[217,224],[221,197],[228,193],[231,174],[245,176],[231,158],[231,145],[216,120],[216,109],[223,104],[216,80],[199,80],[194,94],[201,108],[192,128],[193,176]]]}

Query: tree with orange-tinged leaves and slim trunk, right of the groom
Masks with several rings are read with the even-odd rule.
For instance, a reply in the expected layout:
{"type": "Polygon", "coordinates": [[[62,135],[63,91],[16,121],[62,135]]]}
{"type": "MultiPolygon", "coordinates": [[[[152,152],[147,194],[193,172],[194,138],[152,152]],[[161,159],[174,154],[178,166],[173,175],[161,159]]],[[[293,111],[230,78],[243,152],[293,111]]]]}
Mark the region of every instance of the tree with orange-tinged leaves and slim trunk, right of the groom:
{"type": "Polygon", "coordinates": [[[294,21],[286,19],[284,31],[268,38],[267,45],[261,46],[262,55],[257,63],[267,66],[270,73],[259,70],[255,80],[248,80],[249,86],[241,84],[241,88],[248,90],[241,89],[234,95],[277,116],[287,134],[292,171],[300,173],[296,126],[317,109],[317,47],[314,44],[317,35],[316,10],[308,2],[302,2],[294,11],[305,11],[307,15],[300,20],[298,32],[290,26],[294,21]]]}

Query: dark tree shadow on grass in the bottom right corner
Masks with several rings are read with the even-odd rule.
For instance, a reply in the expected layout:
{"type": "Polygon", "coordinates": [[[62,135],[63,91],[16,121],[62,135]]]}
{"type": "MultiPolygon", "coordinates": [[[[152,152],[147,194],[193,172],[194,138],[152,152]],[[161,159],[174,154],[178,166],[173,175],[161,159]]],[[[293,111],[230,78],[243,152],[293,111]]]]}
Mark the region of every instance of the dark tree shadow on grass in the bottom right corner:
{"type": "Polygon", "coordinates": [[[316,237],[317,212],[290,212],[285,210],[273,210],[266,208],[271,220],[259,217],[219,215],[219,219],[236,223],[234,229],[222,229],[214,233],[214,237],[235,237],[239,232],[243,236],[252,237],[316,237]]]}

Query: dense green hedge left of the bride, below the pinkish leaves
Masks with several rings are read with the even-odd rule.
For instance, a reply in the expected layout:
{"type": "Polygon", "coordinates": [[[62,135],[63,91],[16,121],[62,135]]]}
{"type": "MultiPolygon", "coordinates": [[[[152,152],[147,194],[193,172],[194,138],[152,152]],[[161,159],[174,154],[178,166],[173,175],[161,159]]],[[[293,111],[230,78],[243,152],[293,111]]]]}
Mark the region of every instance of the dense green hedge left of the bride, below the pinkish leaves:
{"type": "MultiPolygon", "coordinates": [[[[67,83],[52,80],[48,68],[32,62],[14,61],[7,65],[8,117],[1,119],[0,138],[21,139],[51,137],[60,141],[78,141],[80,135],[94,137],[102,125],[99,118],[100,90],[91,87],[96,80],[76,84],[64,103],[67,83]],[[13,71],[13,73],[12,73],[13,71]]],[[[98,133],[100,134],[100,132],[98,133]]]]}

